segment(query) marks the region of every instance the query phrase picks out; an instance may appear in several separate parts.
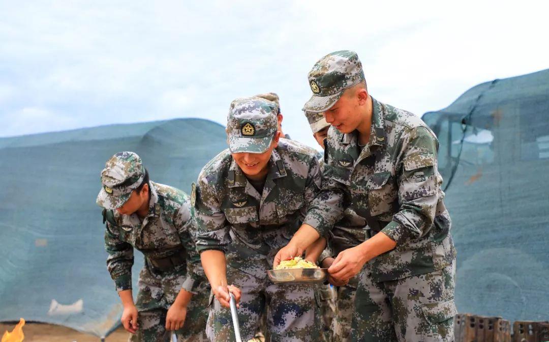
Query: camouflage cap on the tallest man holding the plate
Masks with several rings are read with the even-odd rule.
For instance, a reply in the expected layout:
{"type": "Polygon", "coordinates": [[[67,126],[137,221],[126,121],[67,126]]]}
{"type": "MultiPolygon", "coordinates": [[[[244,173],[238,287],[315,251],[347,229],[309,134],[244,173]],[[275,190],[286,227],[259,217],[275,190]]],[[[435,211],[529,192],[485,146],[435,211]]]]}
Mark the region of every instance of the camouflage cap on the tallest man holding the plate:
{"type": "Polygon", "coordinates": [[[354,51],[342,50],[322,57],[309,71],[309,86],[313,96],[304,111],[326,112],[339,100],[345,89],[364,79],[362,64],[354,51]]]}

